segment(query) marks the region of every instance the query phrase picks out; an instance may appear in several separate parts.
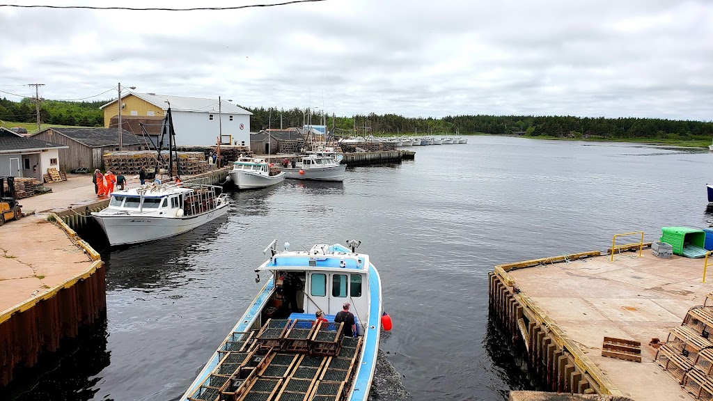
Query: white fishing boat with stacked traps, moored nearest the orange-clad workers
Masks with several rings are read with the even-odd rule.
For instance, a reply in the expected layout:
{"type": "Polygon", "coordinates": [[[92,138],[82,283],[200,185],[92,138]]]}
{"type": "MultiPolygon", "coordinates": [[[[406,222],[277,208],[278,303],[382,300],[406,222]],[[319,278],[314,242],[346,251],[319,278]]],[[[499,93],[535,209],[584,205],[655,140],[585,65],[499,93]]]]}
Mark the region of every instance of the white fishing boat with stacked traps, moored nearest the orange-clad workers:
{"type": "Polygon", "coordinates": [[[144,243],[193,230],[227,213],[227,195],[215,186],[152,183],[111,193],[106,209],[91,215],[110,245],[144,243]]]}

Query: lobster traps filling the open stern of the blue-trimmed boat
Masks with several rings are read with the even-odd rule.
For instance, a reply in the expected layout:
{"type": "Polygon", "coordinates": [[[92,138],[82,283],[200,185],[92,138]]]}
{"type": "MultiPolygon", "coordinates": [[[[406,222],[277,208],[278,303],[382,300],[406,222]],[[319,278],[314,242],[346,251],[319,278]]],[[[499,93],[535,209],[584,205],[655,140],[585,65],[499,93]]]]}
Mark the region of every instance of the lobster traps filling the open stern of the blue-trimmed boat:
{"type": "Polygon", "coordinates": [[[259,330],[232,333],[188,400],[343,400],[361,350],[361,337],[344,337],[343,324],[269,319],[259,330]]]}

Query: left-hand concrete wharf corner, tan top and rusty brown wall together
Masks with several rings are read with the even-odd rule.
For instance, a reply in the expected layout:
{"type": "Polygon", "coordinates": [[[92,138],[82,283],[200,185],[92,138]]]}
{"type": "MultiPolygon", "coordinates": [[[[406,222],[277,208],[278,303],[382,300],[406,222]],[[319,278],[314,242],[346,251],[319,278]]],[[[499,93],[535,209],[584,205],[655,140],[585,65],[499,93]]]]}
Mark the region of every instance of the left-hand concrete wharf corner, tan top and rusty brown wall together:
{"type": "Polygon", "coordinates": [[[53,219],[33,215],[0,227],[0,386],[106,310],[98,253],[53,219]]]}

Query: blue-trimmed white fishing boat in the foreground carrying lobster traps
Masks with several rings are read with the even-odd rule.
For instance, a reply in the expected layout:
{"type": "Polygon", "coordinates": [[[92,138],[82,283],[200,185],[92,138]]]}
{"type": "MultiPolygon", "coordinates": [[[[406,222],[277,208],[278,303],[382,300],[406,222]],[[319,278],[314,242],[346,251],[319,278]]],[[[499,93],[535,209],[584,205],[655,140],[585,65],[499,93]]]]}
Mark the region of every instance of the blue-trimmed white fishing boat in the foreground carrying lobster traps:
{"type": "Polygon", "coordinates": [[[359,241],[300,251],[276,243],[255,269],[255,281],[267,274],[267,283],[181,401],[367,399],[382,322],[391,328],[379,272],[356,253],[359,241]],[[344,303],[356,320],[353,337],[334,322],[344,303]],[[315,321],[318,311],[327,321],[315,321]]]}

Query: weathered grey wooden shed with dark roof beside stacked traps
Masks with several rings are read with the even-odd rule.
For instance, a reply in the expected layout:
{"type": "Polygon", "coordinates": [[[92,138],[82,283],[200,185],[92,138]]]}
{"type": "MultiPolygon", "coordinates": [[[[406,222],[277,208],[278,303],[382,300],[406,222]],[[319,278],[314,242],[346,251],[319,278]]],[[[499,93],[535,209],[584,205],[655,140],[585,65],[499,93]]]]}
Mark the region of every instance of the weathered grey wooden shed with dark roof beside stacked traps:
{"type": "MultiPolygon", "coordinates": [[[[67,146],[59,150],[59,167],[64,171],[81,167],[89,170],[103,169],[104,153],[119,150],[117,128],[47,128],[35,133],[31,138],[67,146]]],[[[121,134],[121,142],[124,151],[148,149],[144,138],[126,130],[121,134]]]]}

